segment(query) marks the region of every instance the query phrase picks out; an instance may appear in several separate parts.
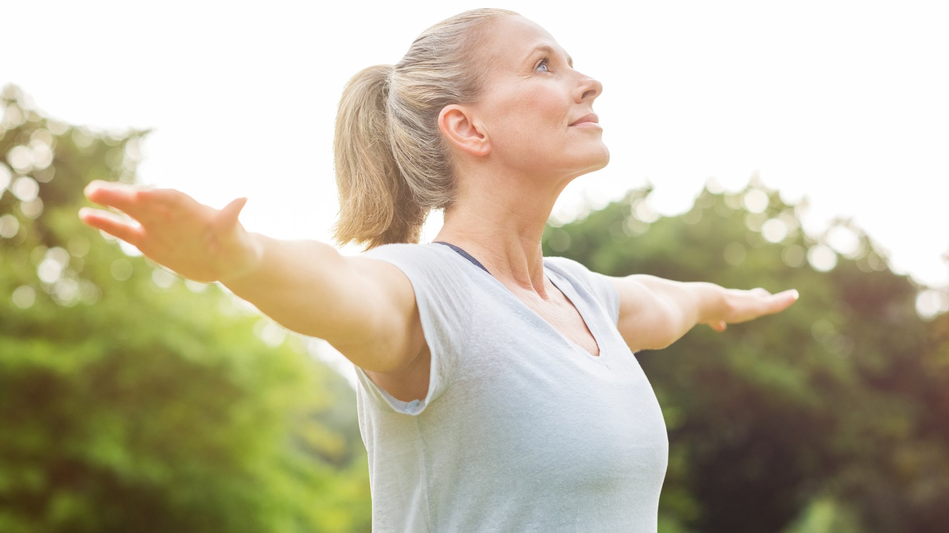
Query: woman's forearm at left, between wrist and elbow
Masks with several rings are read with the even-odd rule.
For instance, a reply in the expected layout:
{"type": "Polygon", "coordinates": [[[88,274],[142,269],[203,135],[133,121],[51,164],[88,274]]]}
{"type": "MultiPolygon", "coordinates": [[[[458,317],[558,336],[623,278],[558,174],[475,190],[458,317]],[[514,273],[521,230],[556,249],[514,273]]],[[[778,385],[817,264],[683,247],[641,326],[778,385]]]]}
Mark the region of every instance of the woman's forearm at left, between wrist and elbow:
{"type": "Polygon", "coordinates": [[[346,285],[344,256],[326,243],[280,240],[250,233],[257,248],[255,267],[220,280],[240,298],[290,330],[326,338],[333,306],[346,285]]]}

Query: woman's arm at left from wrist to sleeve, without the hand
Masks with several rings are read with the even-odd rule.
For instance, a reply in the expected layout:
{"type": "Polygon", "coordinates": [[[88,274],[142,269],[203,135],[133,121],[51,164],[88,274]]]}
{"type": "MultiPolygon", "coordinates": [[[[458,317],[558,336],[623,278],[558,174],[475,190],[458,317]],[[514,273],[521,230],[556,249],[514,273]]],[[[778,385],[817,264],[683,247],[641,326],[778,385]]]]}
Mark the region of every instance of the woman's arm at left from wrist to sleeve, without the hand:
{"type": "Polygon", "coordinates": [[[415,292],[398,267],[312,240],[260,233],[259,267],[221,284],[290,330],[324,339],[364,370],[397,373],[424,338],[415,292]]]}

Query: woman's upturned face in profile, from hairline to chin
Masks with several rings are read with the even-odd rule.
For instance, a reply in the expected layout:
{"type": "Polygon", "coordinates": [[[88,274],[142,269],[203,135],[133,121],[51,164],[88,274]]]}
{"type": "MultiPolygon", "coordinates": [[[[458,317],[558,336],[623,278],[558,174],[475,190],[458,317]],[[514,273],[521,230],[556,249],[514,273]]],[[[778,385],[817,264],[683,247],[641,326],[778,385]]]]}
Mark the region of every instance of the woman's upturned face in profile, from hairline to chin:
{"type": "Polygon", "coordinates": [[[547,178],[573,178],[605,167],[609,150],[602,127],[590,121],[574,124],[593,113],[603,85],[574,70],[547,30],[524,17],[495,23],[486,47],[489,79],[474,109],[491,140],[490,156],[547,178]]]}

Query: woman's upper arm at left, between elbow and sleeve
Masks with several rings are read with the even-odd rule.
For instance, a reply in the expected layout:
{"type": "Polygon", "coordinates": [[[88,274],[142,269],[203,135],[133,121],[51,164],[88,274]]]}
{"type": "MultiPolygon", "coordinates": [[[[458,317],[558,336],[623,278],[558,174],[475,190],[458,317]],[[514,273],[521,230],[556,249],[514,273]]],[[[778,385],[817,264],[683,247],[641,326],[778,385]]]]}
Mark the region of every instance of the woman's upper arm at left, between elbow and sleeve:
{"type": "Polygon", "coordinates": [[[365,257],[344,256],[338,328],[325,338],[353,364],[377,373],[409,367],[425,345],[419,305],[399,267],[365,257]]]}

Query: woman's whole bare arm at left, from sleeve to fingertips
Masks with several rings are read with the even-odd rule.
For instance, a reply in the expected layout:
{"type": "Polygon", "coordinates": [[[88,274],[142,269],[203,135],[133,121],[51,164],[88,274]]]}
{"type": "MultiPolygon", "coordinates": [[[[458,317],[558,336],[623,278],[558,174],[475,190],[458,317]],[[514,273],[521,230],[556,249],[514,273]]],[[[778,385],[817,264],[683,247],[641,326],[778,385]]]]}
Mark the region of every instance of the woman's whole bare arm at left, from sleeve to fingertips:
{"type": "Polygon", "coordinates": [[[399,373],[423,347],[415,293],[398,267],[344,256],[318,241],[248,232],[237,220],[246,198],[215,210],[174,189],[98,180],[85,195],[139,222],[83,208],[86,225],[185,278],[219,281],[275,322],[328,341],[365,370],[399,373]]]}

